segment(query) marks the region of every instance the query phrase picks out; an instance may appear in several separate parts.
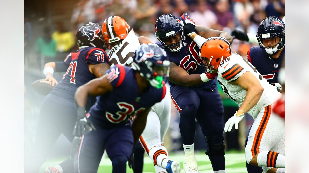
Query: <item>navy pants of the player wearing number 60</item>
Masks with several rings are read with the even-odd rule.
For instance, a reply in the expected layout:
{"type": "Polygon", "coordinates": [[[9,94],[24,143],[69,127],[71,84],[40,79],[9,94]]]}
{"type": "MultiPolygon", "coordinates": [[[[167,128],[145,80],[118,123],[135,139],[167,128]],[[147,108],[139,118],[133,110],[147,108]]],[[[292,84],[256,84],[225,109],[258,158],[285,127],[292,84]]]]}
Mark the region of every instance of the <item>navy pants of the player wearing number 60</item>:
{"type": "MultiPolygon", "coordinates": [[[[171,86],[171,99],[180,112],[180,134],[185,145],[194,143],[195,119],[204,136],[209,137],[208,146],[223,144],[223,105],[218,89],[205,90],[197,87],[171,86]]],[[[225,170],[222,156],[209,155],[214,171],[225,170]]]]}

